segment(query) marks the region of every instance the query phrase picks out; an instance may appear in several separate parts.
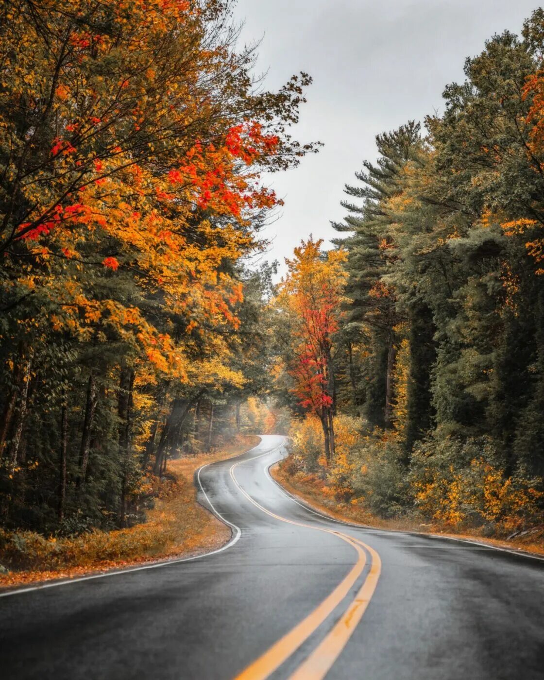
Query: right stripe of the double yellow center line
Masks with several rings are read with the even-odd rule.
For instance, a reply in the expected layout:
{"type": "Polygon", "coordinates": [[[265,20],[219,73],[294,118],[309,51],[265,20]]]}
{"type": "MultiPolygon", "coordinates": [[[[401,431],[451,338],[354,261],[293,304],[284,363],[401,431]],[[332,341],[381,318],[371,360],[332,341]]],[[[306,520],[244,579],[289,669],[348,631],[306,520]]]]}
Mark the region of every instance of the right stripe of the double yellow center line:
{"type": "MultiPolygon", "coordinates": [[[[357,541],[360,543],[360,541],[357,541]]],[[[360,543],[360,545],[365,545],[360,543]]],[[[370,573],[356,594],[350,607],[335,624],[326,638],[313,650],[310,656],[297,668],[289,680],[322,680],[339,657],[350,639],[364,611],[374,594],[381,572],[381,560],[375,550],[365,545],[372,556],[370,573]]]]}

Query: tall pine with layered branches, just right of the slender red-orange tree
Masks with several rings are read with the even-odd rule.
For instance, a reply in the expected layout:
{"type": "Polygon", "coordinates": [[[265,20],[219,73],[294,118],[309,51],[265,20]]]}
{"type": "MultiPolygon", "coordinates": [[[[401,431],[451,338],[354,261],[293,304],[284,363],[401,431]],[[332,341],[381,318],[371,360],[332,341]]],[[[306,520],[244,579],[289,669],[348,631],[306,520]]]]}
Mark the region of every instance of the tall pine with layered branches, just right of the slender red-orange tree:
{"type": "Polygon", "coordinates": [[[376,164],[364,163],[356,173],[362,186],[346,185],[345,192],[362,205],[342,203],[349,212],[345,221],[333,224],[338,231],[352,231],[335,243],[347,249],[350,279],[346,294],[350,298],[349,320],[357,324],[367,339],[368,355],[365,413],[379,426],[392,426],[394,404],[393,374],[396,356],[395,326],[401,322],[394,288],[384,275],[394,254],[392,216],[388,201],[402,191],[405,165],[420,144],[420,126],[409,122],[392,133],[376,137],[379,158],[376,164]]]}

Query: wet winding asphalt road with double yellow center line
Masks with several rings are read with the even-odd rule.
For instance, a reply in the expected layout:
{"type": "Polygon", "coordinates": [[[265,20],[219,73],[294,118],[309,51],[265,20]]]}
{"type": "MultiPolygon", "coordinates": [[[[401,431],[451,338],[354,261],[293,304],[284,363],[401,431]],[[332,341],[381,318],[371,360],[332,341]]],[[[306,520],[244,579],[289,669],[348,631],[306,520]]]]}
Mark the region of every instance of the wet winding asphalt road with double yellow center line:
{"type": "Polygon", "coordinates": [[[269,477],[283,443],[201,470],[215,554],[1,597],[1,677],[544,678],[544,561],[328,520],[269,477]]]}

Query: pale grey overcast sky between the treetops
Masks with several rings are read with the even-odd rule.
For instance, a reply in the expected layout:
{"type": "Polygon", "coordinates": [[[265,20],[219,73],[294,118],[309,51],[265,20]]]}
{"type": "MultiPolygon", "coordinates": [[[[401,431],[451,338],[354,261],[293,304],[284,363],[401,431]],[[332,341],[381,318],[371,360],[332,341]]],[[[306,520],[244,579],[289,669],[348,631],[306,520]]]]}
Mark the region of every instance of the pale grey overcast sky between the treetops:
{"type": "Polygon", "coordinates": [[[310,233],[335,235],[343,185],[364,158],[374,159],[374,137],[411,118],[443,111],[445,84],[462,80],[466,56],[494,33],[519,33],[538,0],[238,0],[242,40],[262,38],[258,71],[268,88],[307,71],[307,93],[295,136],[320,140],[322,151],[287,173],[273,175],[285,200],[266,233],[268,258],[290,256],[310,233]]]}

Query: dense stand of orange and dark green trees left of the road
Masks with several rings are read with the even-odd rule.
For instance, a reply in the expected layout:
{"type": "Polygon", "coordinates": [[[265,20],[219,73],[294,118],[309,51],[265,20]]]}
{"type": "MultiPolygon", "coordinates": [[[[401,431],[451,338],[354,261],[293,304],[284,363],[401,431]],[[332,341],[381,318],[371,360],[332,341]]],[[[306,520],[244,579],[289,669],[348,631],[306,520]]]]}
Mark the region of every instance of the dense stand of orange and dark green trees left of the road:
{"type": "Polygon", "coordinates": [[[2,5],[5,543],[141,522],[267,388],[260,173],[318,145],[289,131],[309,76],[266,90],[238,33],[222,0],[2,5]]]}

